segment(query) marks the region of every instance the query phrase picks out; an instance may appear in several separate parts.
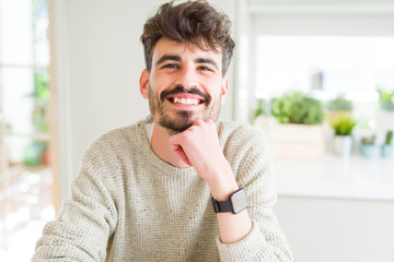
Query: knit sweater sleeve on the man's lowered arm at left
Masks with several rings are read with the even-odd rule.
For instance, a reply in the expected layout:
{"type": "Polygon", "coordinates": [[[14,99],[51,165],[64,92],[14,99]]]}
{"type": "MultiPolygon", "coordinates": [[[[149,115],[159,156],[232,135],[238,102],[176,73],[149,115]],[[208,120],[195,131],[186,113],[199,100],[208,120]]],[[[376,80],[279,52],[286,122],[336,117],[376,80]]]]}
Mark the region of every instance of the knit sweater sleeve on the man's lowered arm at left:
{"type": "Polygon", "coordinates": [[[84,157],[71,186],[72,196],[62,203],[58,218],[44,227],[33,262],[105,260],[117,212],[107,189],[108,175],[95,168],[91,158],[84,157]]]}

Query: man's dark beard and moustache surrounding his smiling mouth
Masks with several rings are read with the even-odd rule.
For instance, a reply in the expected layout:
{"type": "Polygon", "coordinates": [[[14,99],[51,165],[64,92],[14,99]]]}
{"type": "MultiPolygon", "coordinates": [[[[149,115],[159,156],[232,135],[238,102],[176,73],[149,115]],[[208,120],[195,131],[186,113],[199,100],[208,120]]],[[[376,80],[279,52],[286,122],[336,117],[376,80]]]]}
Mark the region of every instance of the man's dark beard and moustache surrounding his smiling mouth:
{"type": "Polygon", "coordinates": [[[163,127],[170,135],[181,133],[192,127],[196,120],[211,119],[216,121],[220,114],[220,96],[219,99],[212,100],[211,97],[196,87],[185,88],[183,86],[175,86],[173,90],[163,91],[160,94],[154,94],[151,86],[149,86],[149,108],[157,123],[163,127]],[[204,109],[195,110],[176,110],[175,116],[165,109],[170,102],[166,99],[169,95],[174,94],[197,94],[205,99],[204,109]]]}

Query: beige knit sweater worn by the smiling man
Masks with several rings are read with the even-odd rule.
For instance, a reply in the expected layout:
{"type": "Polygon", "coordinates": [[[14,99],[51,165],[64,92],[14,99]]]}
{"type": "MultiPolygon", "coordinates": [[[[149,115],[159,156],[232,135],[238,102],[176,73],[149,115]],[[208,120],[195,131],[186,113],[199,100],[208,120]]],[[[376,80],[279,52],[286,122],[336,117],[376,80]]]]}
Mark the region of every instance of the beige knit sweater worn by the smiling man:
{"type": "Polygon", "coordinates": [[[45,226],[33,261],[291,261],[271,209],[273,158],[259,132],[217,123],[253,219],[243,240],[223,245],[207,183],[193,167],[174,167],[152,152],[146,121],[93,143],[72,198],[45,226]]]}

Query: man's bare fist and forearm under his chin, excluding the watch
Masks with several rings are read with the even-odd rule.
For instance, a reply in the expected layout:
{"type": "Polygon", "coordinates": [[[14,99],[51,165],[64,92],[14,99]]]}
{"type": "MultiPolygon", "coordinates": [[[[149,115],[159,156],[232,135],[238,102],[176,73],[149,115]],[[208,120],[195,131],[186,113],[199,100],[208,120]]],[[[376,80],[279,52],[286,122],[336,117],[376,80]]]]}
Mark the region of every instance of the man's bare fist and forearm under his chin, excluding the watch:
{"type": "MultiPolygon", "coordinates": [[[[173,150],[185,163],[194,166],[207,181],[213,199],[225,201],[239,189],[229,162],[225,159],[211,120],[198,120],[188,130],[170,139],[173,150]]],[[[218,213],[220,239],[232,243],[244,238],[252,229],[247,211],[234,215],[218,213]]]]}

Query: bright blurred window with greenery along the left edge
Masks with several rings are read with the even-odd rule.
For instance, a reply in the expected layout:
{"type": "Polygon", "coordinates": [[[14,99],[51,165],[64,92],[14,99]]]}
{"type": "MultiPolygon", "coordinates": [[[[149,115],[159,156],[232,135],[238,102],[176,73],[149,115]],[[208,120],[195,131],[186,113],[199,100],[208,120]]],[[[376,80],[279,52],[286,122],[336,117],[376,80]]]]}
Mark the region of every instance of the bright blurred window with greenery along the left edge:
{"type": "Polygon", "coordinates": [[[47,31],[47,0],[0,0],[1,261],[28,260],[55,216],[47,31]]]}

